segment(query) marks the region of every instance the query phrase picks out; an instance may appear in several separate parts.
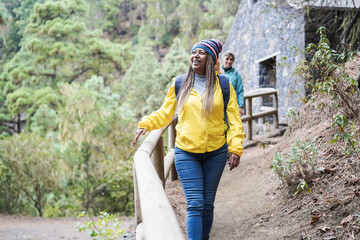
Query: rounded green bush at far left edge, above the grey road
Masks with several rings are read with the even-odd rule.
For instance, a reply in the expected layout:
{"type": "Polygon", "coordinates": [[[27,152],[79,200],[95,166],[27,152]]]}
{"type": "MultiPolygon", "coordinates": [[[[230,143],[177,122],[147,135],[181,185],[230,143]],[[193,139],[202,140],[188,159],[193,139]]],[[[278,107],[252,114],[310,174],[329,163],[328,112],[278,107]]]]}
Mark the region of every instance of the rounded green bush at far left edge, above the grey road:
{"type": "Polygon", "coordinates": [[[17,134],[1,140],[0,169],[1,205],[8,213],[18,211],[18,202],[24,208],[36,209],[43,215],[46,195],[59,187],[59,155],[51,142],[36,134],[17,134]],[[23,198],[26,196],[27,201],[23,198]],[[5,201],[4,201],[5,200],[5,201]],[[2,202],[4,201],[4,202],[2,202]],[[7,202],[9,201],[9,202],[7,202]],[[30,202],[26,205],[27,202],[30,202]]]}

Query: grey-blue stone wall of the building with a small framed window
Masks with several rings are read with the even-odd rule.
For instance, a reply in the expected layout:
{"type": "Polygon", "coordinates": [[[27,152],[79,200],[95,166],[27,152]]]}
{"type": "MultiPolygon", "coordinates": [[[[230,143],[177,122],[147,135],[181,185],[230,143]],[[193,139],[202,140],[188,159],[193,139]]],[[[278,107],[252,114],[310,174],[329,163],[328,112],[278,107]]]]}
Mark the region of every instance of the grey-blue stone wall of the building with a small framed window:
{"type": "MultiPolygon", "coordinates": [[[[278,89],[280,123],[288,122],[286,113],[290,108],[301,107],[294,92],[300,91],[303,96],[304,86],[296,83],[292,69],[302,59],[301,55],[295,56],[293,47],[305,47],[304,19],[301,9],[269,6],[266,0],[242,0],[224,45],[223,52],[235,54],[234,67],[243,78],[245,93],[273,85],[278,89]],[[275,63],[273,72],[269,72],[271,63],[275,63]]],[[[258,105],[254,104],[254,111],[258,105]]]]}

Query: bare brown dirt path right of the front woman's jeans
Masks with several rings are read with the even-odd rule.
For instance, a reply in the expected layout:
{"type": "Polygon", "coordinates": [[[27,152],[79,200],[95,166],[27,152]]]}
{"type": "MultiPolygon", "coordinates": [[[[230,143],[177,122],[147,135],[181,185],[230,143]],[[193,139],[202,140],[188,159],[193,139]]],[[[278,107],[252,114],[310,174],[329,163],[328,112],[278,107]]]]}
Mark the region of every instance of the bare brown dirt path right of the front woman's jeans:
{"type": "Polygon", "coordinates": [[[279,205],[279,181],[272,173],[273,145],[247,148],[241,165],[225,169],[215,202],[212,239],[284,239],[289,229],[277,227],[273,213],[279,205]]]}

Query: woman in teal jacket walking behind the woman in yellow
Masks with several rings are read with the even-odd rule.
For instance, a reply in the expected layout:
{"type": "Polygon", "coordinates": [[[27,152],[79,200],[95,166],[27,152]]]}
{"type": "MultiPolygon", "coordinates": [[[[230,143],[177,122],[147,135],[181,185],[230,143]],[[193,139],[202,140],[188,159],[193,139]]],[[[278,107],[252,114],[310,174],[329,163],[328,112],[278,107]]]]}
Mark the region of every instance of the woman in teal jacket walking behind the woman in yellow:
{"type": "Polygon", "coordinates": [[[223,65],[221,67],[235,89],[240,116],[242,116],[244,114],[244,87],[240,74],[232,66],[234,61],[235,55],[228,51],[223,55],[223,65]]]}

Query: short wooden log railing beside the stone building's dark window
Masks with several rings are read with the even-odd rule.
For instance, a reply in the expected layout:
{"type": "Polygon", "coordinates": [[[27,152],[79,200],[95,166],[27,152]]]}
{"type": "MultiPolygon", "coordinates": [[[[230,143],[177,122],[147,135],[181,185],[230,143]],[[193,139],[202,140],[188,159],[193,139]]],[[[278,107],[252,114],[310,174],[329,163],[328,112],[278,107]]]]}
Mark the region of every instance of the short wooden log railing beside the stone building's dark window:
{"type": "Polygon", "coordinates": [[[246,137],[249,140],[253,139],[252,136],[252,129],[253,129],[253,125],[252,125],[252,120],[254,119],[258,119],[258,118],[264,118],[266,116],[271,116],[274,115],[274,124],[275,124],[275,128],[278,128],[279,126],[279,117],[278,117],[278,92],[276,89],[274,88],[259,88],[253,91],[249,91],[246,92],[244,94],[244,98],[245,98],[245,106],[246,106],[246,115],[241,117],[241,120],[243,122],[247,122],[247,134],[246,137]],[[260,105],[260,112],[256,112],[253,113],[252,112],[252,107],[253,107],[253,99],[257,98],[257,97],[265,97],[265,96],[273,96],[273,103],[274,106],[273,107],[267,107],[267,106],[263,106],[263,102],[260,105]]]}

